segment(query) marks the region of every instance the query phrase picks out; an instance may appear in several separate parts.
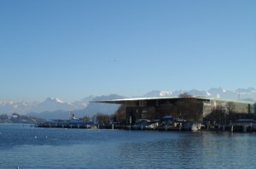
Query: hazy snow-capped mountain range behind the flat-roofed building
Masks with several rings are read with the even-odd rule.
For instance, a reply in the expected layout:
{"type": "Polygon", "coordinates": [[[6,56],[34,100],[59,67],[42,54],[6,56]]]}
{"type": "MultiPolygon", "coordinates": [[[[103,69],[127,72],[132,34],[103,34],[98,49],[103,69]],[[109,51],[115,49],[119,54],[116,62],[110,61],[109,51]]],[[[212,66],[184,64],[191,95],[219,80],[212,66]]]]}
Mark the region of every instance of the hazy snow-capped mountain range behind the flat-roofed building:
{"type": "MultiPolygon", "coordinates": [[[[174,92],[154,90],[140,97],[175,97],[181,93],[189,93],[195,96],[212,98],[241,99],[253,102],[256,100],[256,89],[253,87],[249,87],[247,89],[239,88],[236,91],[225,90],[221,87],[202,91],[195,89],[190,91],[177,90],[174,92]]],[[[70,112],[73,112],[76,116],[96,115],[97,113],[111,115],[119,108],[118,104],[99,104],[91,101],[124,98],[124,96],[111,94],[108,96],[89,96],[84,99],[74,101],[73,103],[67,103],[61,99],[55,98],[47,98],[42,103],[2,100],[0,101],[0,115],[18,113],[20,115],[34,115],[45,119],[67,119],[70,112]]]]}

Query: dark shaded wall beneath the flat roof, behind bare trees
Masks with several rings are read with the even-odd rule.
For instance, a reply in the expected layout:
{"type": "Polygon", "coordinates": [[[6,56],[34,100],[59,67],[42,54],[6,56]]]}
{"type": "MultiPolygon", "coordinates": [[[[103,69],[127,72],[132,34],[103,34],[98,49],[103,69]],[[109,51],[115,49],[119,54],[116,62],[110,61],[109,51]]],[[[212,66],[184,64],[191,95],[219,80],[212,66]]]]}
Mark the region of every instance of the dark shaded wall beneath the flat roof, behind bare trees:
{"type": "MultiPolygon", "coordinates": [[[[138,102],[137,102],[138,103],[138,102]]],[[[166,115],[189,121],[203,120],[203,102],[199,99],[150,100],[126,107],[126,121],[159,120],[166,115]]]]}

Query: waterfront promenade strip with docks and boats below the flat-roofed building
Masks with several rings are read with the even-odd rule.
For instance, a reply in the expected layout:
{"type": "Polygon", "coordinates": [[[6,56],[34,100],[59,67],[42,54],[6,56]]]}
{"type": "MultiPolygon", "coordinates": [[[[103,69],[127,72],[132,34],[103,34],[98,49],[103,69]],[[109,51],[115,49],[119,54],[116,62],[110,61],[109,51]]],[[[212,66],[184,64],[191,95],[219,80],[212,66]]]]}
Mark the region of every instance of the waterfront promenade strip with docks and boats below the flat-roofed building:
{"type": "Polygon", "coordinates": [[[152,131],[223,131],[223,132],[256,132],[256,127],[252,121],[236,121],[229,125],[209,125],[209,123],[200,124],[200,127],[193,130],[193,123],[179,123],[177,125],[145,125],[145,123],[139,124],[105,124],[98,123],[96,121],[85,123],[81,122],[58,122],[58,121],[46,121],[44,123],[38,123],[35,127],[44,128],[77,128],[77,129],[121,129],[121,130],[152,130],[152,131]]]}

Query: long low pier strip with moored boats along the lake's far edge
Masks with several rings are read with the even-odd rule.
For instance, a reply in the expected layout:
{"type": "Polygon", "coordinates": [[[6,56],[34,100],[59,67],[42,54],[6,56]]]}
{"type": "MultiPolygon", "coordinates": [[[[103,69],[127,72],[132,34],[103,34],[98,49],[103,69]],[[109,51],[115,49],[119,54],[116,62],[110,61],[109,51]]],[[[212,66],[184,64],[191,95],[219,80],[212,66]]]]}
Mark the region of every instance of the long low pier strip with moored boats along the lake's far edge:
{"type": "Polygon", "coordinates": [[[155,130],[155,131],[217,131],[217,132],[256,132],[256,121],[253,119],[240,119],[228,125],[212,125],[207,122],[192,122],[176,120],[166,121],[139,121],[134,124],[101,123],[99,121],[69,121],[53,120],[38,123],[35,127],[45,128],[77,128],[77,129],[120,129],[120,130],[155,130]],[[196,128],[194,128],[196,127],[196,128]]]}

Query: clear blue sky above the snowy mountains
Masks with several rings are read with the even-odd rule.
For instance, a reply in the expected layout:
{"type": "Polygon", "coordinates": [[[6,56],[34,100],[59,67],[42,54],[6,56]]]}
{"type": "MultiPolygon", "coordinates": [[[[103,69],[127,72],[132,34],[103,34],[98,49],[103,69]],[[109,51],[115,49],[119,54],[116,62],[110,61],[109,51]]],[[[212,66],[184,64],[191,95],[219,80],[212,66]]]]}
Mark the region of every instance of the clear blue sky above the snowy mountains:
{"type": "Polygon", "coordinates": [[[211,87],[256,87],[256,1],[0,1],[0,99],[211,87]]]}

